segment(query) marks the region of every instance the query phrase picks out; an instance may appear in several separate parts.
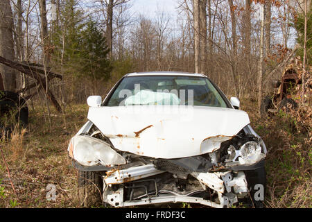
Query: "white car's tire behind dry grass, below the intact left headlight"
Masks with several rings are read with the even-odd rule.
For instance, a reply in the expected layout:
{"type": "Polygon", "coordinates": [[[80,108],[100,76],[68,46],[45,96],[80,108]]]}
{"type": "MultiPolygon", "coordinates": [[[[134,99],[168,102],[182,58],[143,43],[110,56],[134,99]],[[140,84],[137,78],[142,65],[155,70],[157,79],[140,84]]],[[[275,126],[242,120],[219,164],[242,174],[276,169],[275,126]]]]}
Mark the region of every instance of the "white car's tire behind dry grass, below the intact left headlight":
{"type": "Polygon", "coordinates": [[[103,204],[103,180],[101,174],[94,171],[78,170],[78,200],[83,207],[103,204]]]}

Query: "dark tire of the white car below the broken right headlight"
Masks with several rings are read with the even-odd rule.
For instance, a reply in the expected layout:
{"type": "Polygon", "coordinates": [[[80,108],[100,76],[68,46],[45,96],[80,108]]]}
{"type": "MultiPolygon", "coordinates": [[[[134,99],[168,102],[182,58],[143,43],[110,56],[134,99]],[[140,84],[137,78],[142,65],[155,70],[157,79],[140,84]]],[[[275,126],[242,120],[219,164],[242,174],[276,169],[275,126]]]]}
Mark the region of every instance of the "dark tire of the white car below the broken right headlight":
{"type": "Polygon", "coordinates": [[[250,196],[247,198],[248,205],[263,208],[266,196],[266,169],[261,167],[252,171],[245,171],[245,176],[250,191],[250,196]]]}

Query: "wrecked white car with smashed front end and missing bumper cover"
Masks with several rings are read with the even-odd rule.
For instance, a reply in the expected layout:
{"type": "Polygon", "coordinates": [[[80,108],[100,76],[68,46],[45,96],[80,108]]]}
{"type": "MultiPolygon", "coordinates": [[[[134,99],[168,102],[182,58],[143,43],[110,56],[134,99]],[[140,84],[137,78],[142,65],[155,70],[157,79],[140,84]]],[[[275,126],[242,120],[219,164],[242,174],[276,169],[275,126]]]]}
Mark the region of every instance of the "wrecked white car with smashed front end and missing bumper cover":
{"type": "Polygon", "coordinates": [[[68,147],[83,205],[263,204],[266,146],[239,100],[206,76],[127,74],[87,103],[68,147]]]}

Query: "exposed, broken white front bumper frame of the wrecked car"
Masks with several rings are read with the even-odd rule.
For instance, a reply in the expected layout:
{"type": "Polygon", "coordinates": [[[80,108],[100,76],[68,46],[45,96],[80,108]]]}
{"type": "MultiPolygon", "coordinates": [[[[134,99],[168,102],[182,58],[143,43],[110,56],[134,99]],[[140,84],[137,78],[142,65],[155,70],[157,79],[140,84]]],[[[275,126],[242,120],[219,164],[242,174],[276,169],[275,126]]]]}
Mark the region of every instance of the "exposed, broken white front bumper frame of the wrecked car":
{"type": "Polygon", "coordinates": [[[185,192],[169,190],[170,186],[164,186],[159,180],[164,173],[153,164],[107,171],[103,176],[103,202],[114,207],[184,202],[223,208],[231,207],[238,202],[238,198],[248,196],[244,171],[191,173],[189,182],[197,181],[198,186],[185,192]],[[153,189],[150,189],[150,185],[153,185],[153,189]],[[141,196],[135,196],[139,189],[141,196]],[[205,193],[210,196],[196,195],[205,193]]]}

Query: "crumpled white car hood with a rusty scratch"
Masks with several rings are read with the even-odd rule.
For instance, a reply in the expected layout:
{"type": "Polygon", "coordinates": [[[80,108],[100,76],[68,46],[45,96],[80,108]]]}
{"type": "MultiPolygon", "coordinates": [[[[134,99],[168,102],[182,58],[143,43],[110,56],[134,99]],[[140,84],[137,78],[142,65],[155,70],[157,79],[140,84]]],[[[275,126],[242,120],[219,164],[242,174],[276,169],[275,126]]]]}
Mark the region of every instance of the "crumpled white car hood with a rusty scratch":
{"type": "Polygon", "coordinates": [[[88,119],[120,151],[167,159],[215,151],[250,123],[241,110],[179,105],[92,107],[88,119]]]}

